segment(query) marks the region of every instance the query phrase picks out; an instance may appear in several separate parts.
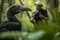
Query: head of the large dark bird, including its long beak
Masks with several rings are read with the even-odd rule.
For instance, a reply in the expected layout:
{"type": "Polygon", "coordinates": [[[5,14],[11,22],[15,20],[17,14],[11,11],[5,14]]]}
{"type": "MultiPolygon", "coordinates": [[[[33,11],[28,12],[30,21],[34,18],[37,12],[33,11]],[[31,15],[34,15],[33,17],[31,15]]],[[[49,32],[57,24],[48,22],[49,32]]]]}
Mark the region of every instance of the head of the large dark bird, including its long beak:
{"type": "Polygon", "coordinates": [[[31,11],[31,9],[21,5],[12,5],[8,9],[8,12],[10,13],[20,13],[23,11],[31,11]]]}

